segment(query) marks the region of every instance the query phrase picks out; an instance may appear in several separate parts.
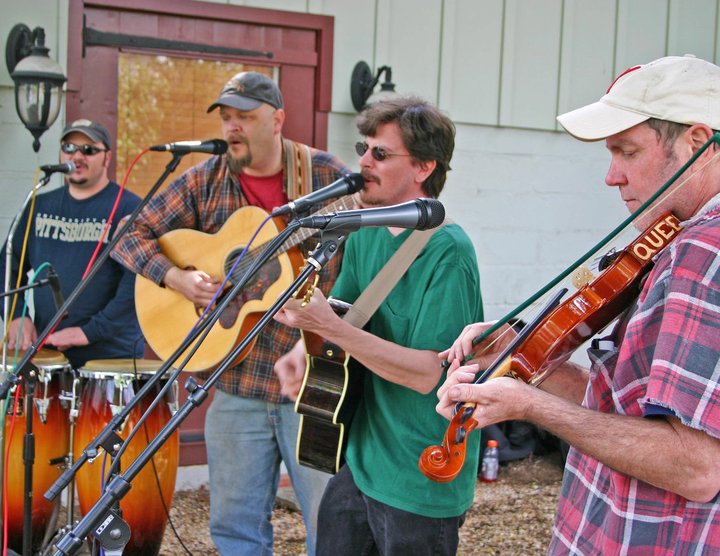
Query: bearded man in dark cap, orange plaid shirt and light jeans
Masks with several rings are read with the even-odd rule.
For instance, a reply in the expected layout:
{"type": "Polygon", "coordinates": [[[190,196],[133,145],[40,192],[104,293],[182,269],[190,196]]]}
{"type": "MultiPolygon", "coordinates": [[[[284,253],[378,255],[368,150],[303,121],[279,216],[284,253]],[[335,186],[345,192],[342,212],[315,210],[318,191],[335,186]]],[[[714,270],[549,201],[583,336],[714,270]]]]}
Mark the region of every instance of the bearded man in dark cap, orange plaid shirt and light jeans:
{"type": "MultiPolygon", "coordinates": [[[[259,72],[233,76],[208,108],[220,116],[227,153],[194,166],[153,197],[113,257],[165,291],[176,292],[177,303],[207,306],[222,276],[176,264],[162,254],[158,237],[177,228],[217,233],[229,218],[246,218],[248,212],[236,213],[238,209],[253,206],[269,213],[349,172],[334,156],[284,138],[283,107],[280,88],[270,77],[259,72]]],[[[238,244],[243,241],[236,239],[238,244]]],[[[305,252],[315,243],[303,244],[305,252]]],[[[223,254],[218,257],[224,260],[223,254]]],[[[339,260],[333,258],[321,273],[325,292],[335,279],[339,260]]],[[[278,280],[265,276],[268,279],[278,280]]],[[[258,290],[266,288],[267,284],[258,284],[258,290]]],[[[269,516],[281,460],[303,512],[308,553],[314,554],[317,509],[328,475],[297,463],[299,417],[294,404],[280,393],[272,370],[275,360],[298,339],[293,329],[278,323],[267,326],[250,354],[222,375],[208,410],[210,531],[222,554],[272,552],[269,516]]],[[[212,350],[212,343],[206,344],[200,349],[212,350]]]]}

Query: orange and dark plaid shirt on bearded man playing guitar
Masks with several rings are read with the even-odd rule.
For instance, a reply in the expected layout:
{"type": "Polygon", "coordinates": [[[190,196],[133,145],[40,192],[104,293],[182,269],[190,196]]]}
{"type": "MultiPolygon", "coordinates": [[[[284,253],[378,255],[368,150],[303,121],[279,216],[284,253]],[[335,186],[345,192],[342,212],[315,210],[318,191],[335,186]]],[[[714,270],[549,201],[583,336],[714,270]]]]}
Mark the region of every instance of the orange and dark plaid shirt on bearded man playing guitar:
{"type": "MultiPolygon", "coordinates": [[[[287,145],[286,145],[287,146],[287,145]]],[[[311,149],[312,188],[320,189],[350,170],[332,155],[311,149]]],[[[216,233],[228,217],[249,203],[242,193],[237,175],[228,171],[226,157],[213,156],[190,168],[167,189],[153,197],[140,213],[134,226],[118,243],[113,258],[157,284],[173,266],[161,252],[157,238],[179,228],[216,233]]],[[[283,186],[288,193],[287,175],[283,186]]],[[[307,240],[305,251],[317,240],[307,240]]],[[[341,253],[333,257],[321,273],[319,287],[327,293],[340,268],[341,253]]],[[[170,326],[171,323],[168,323],[170,326]]],[[[188,331],[189,332],[189,331],[188,331]]],[[[269,402],[287,402],[280,395],[280,383],[273,372],[275,360],[287,353],[300,339],[297,330],[271,321],[258,335],[255,347],[237,366],[228,369],[218,388],[229,394],[260,398],[269,402]]]]}

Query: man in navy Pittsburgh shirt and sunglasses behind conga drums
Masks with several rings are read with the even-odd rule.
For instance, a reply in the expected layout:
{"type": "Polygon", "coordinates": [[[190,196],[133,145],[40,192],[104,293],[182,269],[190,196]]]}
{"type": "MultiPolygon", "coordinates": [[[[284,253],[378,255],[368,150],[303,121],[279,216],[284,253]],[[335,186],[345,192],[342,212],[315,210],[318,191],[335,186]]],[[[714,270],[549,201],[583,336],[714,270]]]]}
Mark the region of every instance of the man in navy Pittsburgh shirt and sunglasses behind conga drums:
{"type": "MultiPolygon", "coordinates": [[[[50,263],[58,274],[65,296],[82,279],[103,233],[103,228],[120,194],[120,186],[108,177],[112,153],[107,129],[88,119],[65,126],[60,143],[60,161],[72,161],[75,171],[65,177],[65,186],[38,195],[35,209],[26,210],[19,224],[25,230],[30,219],[27,256],[20,266],[24,234],[13,237],[12,280],[18,273],[27,280],[27,272],[50,263]]],[[[106,236],[112,237],[119,220],[140,203],[139,197],[124,191],[106,236]]],[[[5,257],[2,257],[3,270],[5,257]]],[[[88,283],[82,295],[70,307],[47,345],[62,351],[70,364],[78,368],[94,359],[127,359],[142,356],[142,333],[135,315],[134,276],[122,265],[108,260],[88,283]]],[[[49,288],[37,288],[35,314],[22,316],[17,304],[10,324],[8,346],[28,349],[55,316],[57,307],[49,288]]]]}

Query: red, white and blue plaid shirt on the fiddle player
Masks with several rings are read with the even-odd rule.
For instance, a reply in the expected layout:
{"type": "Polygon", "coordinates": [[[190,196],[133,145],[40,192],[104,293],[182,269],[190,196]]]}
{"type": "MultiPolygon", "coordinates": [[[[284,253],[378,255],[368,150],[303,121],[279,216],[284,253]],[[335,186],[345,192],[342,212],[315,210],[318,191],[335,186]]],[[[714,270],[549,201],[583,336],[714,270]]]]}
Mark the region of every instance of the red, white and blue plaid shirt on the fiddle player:
{"type": "MultiPolygon", "coordinates": [[[[720,208],[684,226],[648,276],[619,349],[589,350],[583,405],[672,415],[720,438],[720,208]]],[[[549,553],[720,554],[720,496],[691,502],[572,449],[549,553]]]]}

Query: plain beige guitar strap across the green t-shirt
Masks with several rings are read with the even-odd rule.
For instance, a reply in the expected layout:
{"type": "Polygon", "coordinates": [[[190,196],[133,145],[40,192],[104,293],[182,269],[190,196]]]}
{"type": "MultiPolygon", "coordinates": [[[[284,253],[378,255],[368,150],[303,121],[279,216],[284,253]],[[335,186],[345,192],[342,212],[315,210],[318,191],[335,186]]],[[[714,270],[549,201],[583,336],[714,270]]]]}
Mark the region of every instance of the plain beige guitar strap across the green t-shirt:
{"type": "Polygon", "coordinates": [[[390,257],[385,266],[380,269],[368,287],[363,290],[352,307],[345,313],[343,320],[356,328],[362,328],[370,320],[380,304],[405,274],[412,262],[427,245],[432,235],[449,221],[446,220],[437,228],[431,230],[414,230],[403,242],[395,254],[390,257]]]}

